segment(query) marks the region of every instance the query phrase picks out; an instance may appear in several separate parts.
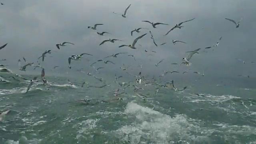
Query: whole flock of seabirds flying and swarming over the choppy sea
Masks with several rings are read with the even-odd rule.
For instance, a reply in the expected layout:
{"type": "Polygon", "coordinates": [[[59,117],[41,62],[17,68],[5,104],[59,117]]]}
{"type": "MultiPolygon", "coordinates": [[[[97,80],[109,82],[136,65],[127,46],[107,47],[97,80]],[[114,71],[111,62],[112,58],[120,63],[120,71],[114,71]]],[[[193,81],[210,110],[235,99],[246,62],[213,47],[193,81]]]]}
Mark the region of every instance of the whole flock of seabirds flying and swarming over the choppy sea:
{"type": "MultiPolygon", "coordinates": [[[[1,4],[2,4],[2,3],[1,3],[1,4]]],[[[117,15],[121,15],[123,18],[127,18],[128,9],[130,8],[130,6],[131,6],[131,4],[124,10],[124,13],[123,13],[123,14],[118,14],[118,13],[116,13],[116,12],[113,12],[113,13],[114,13],[114,14],[117,14],[117,15]]],[[[184,24],[184,23],[186,23],[186,22],[190,22],[190,21],[192,21],[192,20],[194,20],[194,19],[195,19],[195,18],[192,18],[192,19],[190,19],[190,20],[186,20],[186,21],[184,21],[184,22],[180,22],[179,24],[176,24],[176,25],[173,26],[166,34],[164,34],[163,36],[166,36],[166,35],[170,34],[170,32],[172,32],[172,30],[174,30],[174,29],[176,29],[176,28],[178,28],[178,29],[183,28],[184,26],[183,26],[182,24],[184,24]]],[[[240,22],[242,21],[242,18],[241,18],[241,20],[240,20],[239,22],[235,22],[234,20],[231,20],[231,19],[228,19],[228,18],[225,18],[225,19],[226,19],[226,20],[229,20],[229,21],[231,21],[231,22],[233,22],[233,23],[236,25],[236,28],[239,28],[240,22]]],[[[151,24],[153,28],[156,28],[156,26],[158,26],[158,25],[166,25],[166,26],[169,25],[169,24],[164,24],[164,23],[160,23],[160,22],[153,23],[153,22],[150,22],[150,21],[148,21],[148,20],[143,20],[142,22],[147,22],[147,23],[151,24]]],[[[97,26],[104,26],[104,24],[94,24],[94,26],[88,26],[88,28],[90,28],[90,29],[92,29],[92,30],[97,30],[97,26]]],[[[134,30],[131,31],[131,36],[133,36],[133,33],[134,33],[134,32],[140,33],[140,32],[141,32],[140,30],[141,30],[141,31],[142,31],[142,30],[143,30],[143,31],[146,31],[146,30],[149,30],[149,29],[148,29],[148,28],[136,28],[136,29],[134,29],[134,30]]],[[[150,33],[150,38],[151,38],[151,40],[153,41],[154,45],[155,45],[155,46],[158,46],[158,44],[156,44],[156,42],[155,42],[155,40],[154,40],[154,37],[153,37],[153,34],[152,34],[152,32],[151,32],[150,30],[149,30],[149,33],[150,33]]],[[[105,36],[104,34],[111,34],[111,33],[109,33],[109,32],[96,32],[96,34],[101,35],[101,36],[105,36]]],[[[138,36],[137,38],[135,38],[134,41],[132,42],[132,44],[127,44],[127,43],[125,42],[126,44],[120,45],[119,48],[122,48],[122,47],[129,47],[129,48],[131,48],[132,50],[135,50],[135,49],[138,48],[138,46],[137,46],[138,40],[140,40],[141,38],[144,38],[144,36],[146,36],[147,34],[148,34],[148,33],[145,32],[144,34],[142,34],[142,35],[138,36]]],[[[218,42],[216,42],[215,45],[204,48],[204,51],[205,51],[206,49],[210,49],[210,48],[212,48],[212,47],[218,47],[218,45],[219,45],[221,39],[222,39],[222,37],[219,38],[218,42]]],[[[114,43],[114,42],[116,42],[116,41],[123,42],[123,40],[118,40],[118,39],[106,39],[106,40],[102,41],[99,45],[101,46],[101,45],[105,44],[106,42],[114,43]]],[[[180,41],[180,40],[172,40],[172,43],[173,43],[173,44],[177,44],[178,42],[186,44],[186,42],[183,42],[183,41],[180,41]]],[[[164,43],[162,43],[162,44],[160,44],[160,45],[164,45],[164,44],[166,44],[166,43],[167,43],[167,42],[164,42],[164,43]]],[[[61,50],[61,47],[63,47],[63,46],[68,46],[67,44],[74,45],[74,44],[71,43],[71,42],[62,42],[62,43],[56,44],[56,47],[57,47],[58,50],[61,50]]],[[[138,45],[139,45],[139,44],[138,44],[138,45]]],[[[3,48],[5,48],[6,46],[7,46],[7,43],[4,44],[3,46],[1,46],[1,47],[0,47],[0,50],[3,49],[3,48]]],[[[141,45],[140,45],[140,46],[141,46],[141,45]]],[[[134,52],[134,51],[132,51],[132,50],[131,50],[131,53],[134,52]]],[[[195,54],[199,54],[199,51],[200,51],[200,50],[201,50],[201,48],[198,48],[198,49],[196,49],[196,50],[187,52],[187,53],[188,53],[188,56],[181,59],[180,65],[185,64],[186,66],[191,66],[190,60],[191,60],[192,56],[194,56],[195,54]]],[[[45,52],[42,53],[42,55],[38,58],[38,60],[39,60],[40,58],[42,58],[42,62],[44,62],[44,59],[45,59],[46,55],[51,54],[51,52],[52,52],[52,50],[45,50],[45,52]]],[[[147,50],[145,50],[145,52],[147,52],[147,50]]],[[[152,52],[155,52],[155,51],[152,51],[152,52]]],[[[103,59],[100,59],[100,60],[97,60],[96,62],[93,62],[92,64],[90,64],[90,66],[94,68],[94,71],[95,71],[96,73],[99,73],[99,71],[100,71],[101,69],[103,69],[104,67],[95,68],[95,67],[93,66],[94,64],[96,64],[97,62],[100,62],[100,61],[103,61],[104,64],[115,64],[114,62],[112,62],[112,61],[110,61],[110,60],[105,60],[105,59],[106,59],[106,58],[110,58],[110,57],[117,58],[119,55],[124,55],[124,54],[127,54],[127,53],[128,53],[128,52],[120,52],[120,53],[112,54],[112,55],[110,55],[110,56],[106,56],[106,57],[104,57],[103,59]]],[[[93,56],[92,54],[87,54],[87,53],[73,54],[73,55],[71,55],[70,57],[68,57],[68,68],[70,68],[70,69],[72,68],[72,66],[70,66],[70,64],[71,64],[72,61],[81,60],[84,55],[93,56]]],[[[133,54],[129,54],[128,56],[130,56],[131,58],[134,58],[134,61],[136,61],[136,58],[134,57],[133,54]]],[[[148,54],[148,56],[152,56],[152,54],[148,54]]],[[[41,68],[41,69],[42,69],[42,72],[41,72],[42,83],[45,84],[45,85],[47,85],[47,84],[48,84],[48,81],[47,81],[46,78],[45,78],[45,71],[44,71],[45,69],[42,68],[42,66],[40,66],[40,63],[38,62],[38,65],[34,65],[34,62],[27,62],[25,58],[23,58],[23,60],[24,60],[24,62],[26,63],[26,64],[24,64],[23,66],[22,66],[22,64],[21,64],[21,60],[20,60],[20,59],[18,60],[18,65],[19,65],[19,68],[20,68],[19,70],[21,70],[21,71],[26,71],[26,68],[27,68],[28,66],[34,66],[34,70],[35,70],[36,68],[41,68]]],[[[240,60],[240,59],[238,59],[238,60],[240,60]]],[[[6,59],[2,59],[2,60],[0,60],[0,61],[6,61],[6,59]]],[[[155,64],[155,66],[156,66],[156,67],[159,66],[159,64],[160,64],[161,62],[163,62],[163,61],[164,61],[164,59],[160,60],[157,64],[155,64]]],[[[240,60],[240,61],[243,61],[243,63],[246,63],[246,62],[254,63],[254,62],[252,62],[252,61],[244,61],[244,60],[240,60]]],[[[72,62],[72,63],[73,63],[73,62],[72,62]]],[[[177,65],[178,63],[172,63],[172,64],[176,64],[176,65],[177,65]]],[[[2,65],[0,65],[0,66],[5,66],[5,65],[2,64],[2,65]]],[[[58,68],[58,67],[59,67],[59,66],[54,66],[54,69],[56,69],[56,68],[58,68]]],[[[125,70],[127,70],[128,68],[130,68],[130,67],[131,67],[130,65],[129,65],[129,66],[126,66],[125,64],[123,64],[123,66],[120,67],[120,69],[123,70],[123,71],[125,71],[125,70]]],[[[139,68],[142,68],[142,64],[140,64],[138,67],[139,67],[139,68]]],[[[2,72],[7,72],[8,69],[5,69],[5,70],[2,69],[1,71],[2,71],[2,72]]],[[[178,72],[178,71],[167,71],[167,72],[164,71],[164,73],[163,73],[163,74],[160,74],[159,77],[166,76],[167,74],[170,74],[170,73],[173,74],[173,73],[179,73],[179,72],[178,72]]],[[[182,74],[185,74],[185,73],[188,73],[188,72],[185,71],[185,72],[183,72],[182,74]]],[[[198,75],[201,75],[201,76],[204,76],[204,72],[202,72],[202,73],[200,73],[200,72],[194,72],[194,73],[195,73],[195,74],[198,74],[198,75]]],[[[104,81],[102,78],[96,77],[95,74],[92,74],[92,73],[90,73],[90,72],[87,72],[86,74],[87,74],[88,76],[93,76],[93,78],[95,78],[96,80],[99,80],[99,82],[101,82],[103,85],[102,85],[102,86],[91,86],[91,85],[90,85],[90,82],[83,82],[83,83],[81,84],[81,88],[83,88],[85,84],[87,85],[87,88],[89,88],[89,87],[92,87],[92,88],[105,88],[105,87],[109,87],[109,86],[110,86],[110,84],[107,84],[107,82],[104,81]]],[[[143,85],[144,85],[144,86],[155,86],[155,94],[154,94],[154,96],[157,95],[157,93],[158,93],[158,91],[160,90],[160,88],[173,89],[173,90],[175,90],[175,91],[184,91],[184,90],[186,90],[186,88],[187,88],[187,86],[185,86],[185,87],[183,87],[183,88],[181,88],[181,89],[178,89],[178,88],[176,88],[176,87],[174,86],[174,81],[173,81],[173,80],[172,80],[171,82],[162,82],[161,80],[157,80],[157,77],[155,77],[155,76],[153,76],[153,78],[150,78],[150,76],[148,76],[148,75],[142,75],[141,72],[140,72],[138,75],[130,74],[130,73],[128,73],[128,72],[126,72],[126,74],[129,74],[130,76],[134,77],[134,80],[131,80],[131,81],[129,81],[129,82],[120,82],[120,79],[122,78],[122,76],[117,76],[117,75],[115,74],[114,83],[115,83],[115,84],[118,84],[118,88],[117,88],[116,90],[113,90],[113,91],[114,91],[114,96],[116,96],[116,98],[110,98],[110,99],[109,99],[110,101],[112,101],[112,100],[122,100],[123,98],[118,98],[117,96],[120,95],[120,94],[127,94],[127,93],[126,93],[126,88],[128,88],[128,87],[132,87],[133,90],[134,90],[134,92],[136,93],[136,95],[139,96],[140,98],[142,98],[143,100],[146,100],[147,97],[150,96],[150,94],[146,94],[146,95],[145,95],[145,94],[138,93],[138,90],[144,90],[144,88],[142,87],[143,85]],[[161,84],[161,83],[162,83],[162,84],[161,84]],[[139,86],[140,86],[140,87],[139,87],[139,86]],[[122,92],[120,92],[120,91],[122,91],[122,92]]],[[[24,80],[27,80],[26,78],[23,78],[22,76],[17,75],[17,74],[14,74],[14,76],[18,76],[18,77],[20,77],[20,78],[22,78],[22,79],[24,79],[24,80]]],[[[13,77],[13,78],[14,78],[14,77],[13,77]]],[[[1,80],[2,82],[4,81],[3,78],[1,78],[0,80],[1,80]]],[[[29,84],[28,84],[26,93],[29,92],[30,88],[31,88],[31,87],[33,86],[33,84],[36,83],[36,82],[39,82],[39,80],[37,80],[37,77],[34,77],[32,80],[30,80],[30,81],[28,82],[29,84]]],[[[87,103],[87,102],[89,102],[90,100],[88,100],[88,99],[82,99],[82,100],[78,100],[78,101],[79,101],[79,102],[83,102],[83,103],[87,103]]],[[[105,102],[105,101],[102,100],[102,102],[105,102]]],[[[0,114],[0,121],[2,120],[2,117],[3,117],[4,115],[8,114],[9,112],[10,112],[10,110],[9,110],[9,111],[6,111],[6,112],[2,112],[2,113],[0,114]]]]}

